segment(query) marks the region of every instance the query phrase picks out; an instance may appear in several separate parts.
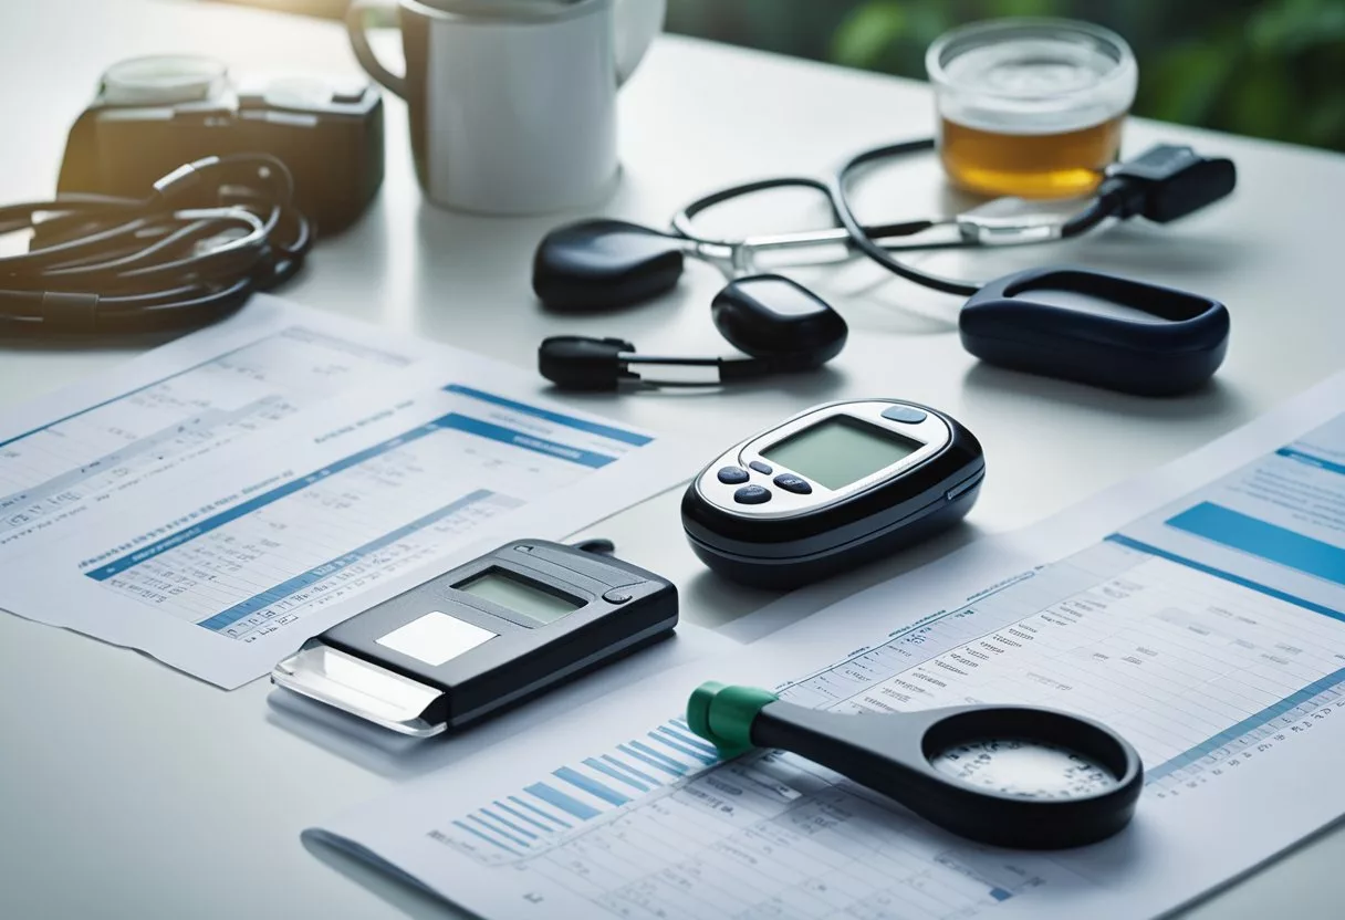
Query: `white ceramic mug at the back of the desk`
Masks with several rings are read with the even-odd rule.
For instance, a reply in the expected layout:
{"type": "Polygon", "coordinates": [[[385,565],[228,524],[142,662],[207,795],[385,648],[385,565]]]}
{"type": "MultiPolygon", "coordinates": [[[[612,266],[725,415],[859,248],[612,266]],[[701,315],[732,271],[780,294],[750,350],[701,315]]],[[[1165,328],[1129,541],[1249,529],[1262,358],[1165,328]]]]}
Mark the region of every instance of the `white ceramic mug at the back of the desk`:
{"type": "Polygon", "coordinates": [[[416,175],[437,204],[545,214],[616,182],[616,90],[663,26],[666,0],[401,0],[406,73],[346,17],[369,74],[406,100],[416,175]]]}

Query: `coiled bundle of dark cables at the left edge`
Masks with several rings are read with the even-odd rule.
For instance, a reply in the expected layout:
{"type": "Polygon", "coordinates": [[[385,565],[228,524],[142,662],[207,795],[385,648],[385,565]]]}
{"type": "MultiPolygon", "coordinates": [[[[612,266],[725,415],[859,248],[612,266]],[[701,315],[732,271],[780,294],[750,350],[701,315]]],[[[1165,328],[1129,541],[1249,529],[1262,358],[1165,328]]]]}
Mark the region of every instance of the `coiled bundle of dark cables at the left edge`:
{"type": "Polygon", "coordinates": [[[143,199],[70,194],[0,207],[0,338],[204,325],[288,281],[312,246],[295,183],[268,153],[190,163],[143,199]]]}

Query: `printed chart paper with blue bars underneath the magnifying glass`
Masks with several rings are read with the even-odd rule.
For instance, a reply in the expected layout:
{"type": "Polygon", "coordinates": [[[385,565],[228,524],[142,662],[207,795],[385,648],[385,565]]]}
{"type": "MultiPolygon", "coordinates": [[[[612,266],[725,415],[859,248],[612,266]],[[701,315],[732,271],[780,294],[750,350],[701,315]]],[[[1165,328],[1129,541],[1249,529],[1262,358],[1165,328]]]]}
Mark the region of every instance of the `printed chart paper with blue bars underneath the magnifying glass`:
{"type": "Polygon", "coordinates": [[[655,675],[309,834],[484,917],[1177,908],[1345,814],[1342,408],[1345,374],[1059,519],[655,675]],[[705,679],[843,713],[1072,710],[1135,745],[1146,788],[1103,843],[979,846],[792,755],[721,763],[681,714],[705,679]]]}

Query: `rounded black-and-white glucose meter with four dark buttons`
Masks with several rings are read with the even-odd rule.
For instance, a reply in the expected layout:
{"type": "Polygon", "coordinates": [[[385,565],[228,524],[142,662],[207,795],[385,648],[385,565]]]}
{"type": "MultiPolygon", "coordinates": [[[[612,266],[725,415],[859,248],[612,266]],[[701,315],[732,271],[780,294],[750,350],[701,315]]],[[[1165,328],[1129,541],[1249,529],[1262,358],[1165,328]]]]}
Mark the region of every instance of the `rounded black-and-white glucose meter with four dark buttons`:
{"type": "Polygon", "coordinates": [[[796,588],[962,519],[985,471],[975,436],[936,409],[831,402],[712,461],[682,498],[682,527],[720,574],[796,588]]]}

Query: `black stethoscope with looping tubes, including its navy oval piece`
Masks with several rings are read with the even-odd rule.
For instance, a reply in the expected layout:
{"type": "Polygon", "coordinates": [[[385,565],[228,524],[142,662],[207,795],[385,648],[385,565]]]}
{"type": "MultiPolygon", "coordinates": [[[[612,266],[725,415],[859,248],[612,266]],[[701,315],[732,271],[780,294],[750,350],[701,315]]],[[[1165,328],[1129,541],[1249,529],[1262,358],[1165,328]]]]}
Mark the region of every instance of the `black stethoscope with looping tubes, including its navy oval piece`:
{"type": "MultiPolygon", "coordinates": [[[[991,202],[951,219],[862,225],[850,200],[851,179],[866,165],[932,148],[929,139],[886,144],[847,157],[824,179],[785,176],[724,188],[678,211],[667,231],[613,219],[557,227],[541,241],[533,262],[533,289],[543,305],[561,312],[628,307],[674,288],[685,260],[697,258],[729,278],[712,304],[712,315],[724,338],[746,358],[642,355],[619,338],[553,336],[539,348],[542,375],[561,389],[608,390],[629,383],[705,386],[819,367],[843,347],[847,327],[839,313],[792,281],[788,284],[796,291],[788,293],[784,309],[773,309],[769,300],[742,288],[760,292],[765,280],[784,281],[777,274],[755,273],[761,253],[837,243],[907,281],[968,297],[959,313],[962,342],[991,363],[1146,395],[1194,389],[1219,367],[1227,348],[1228,312],[1208,297],[1079,268],[1032,269],[986,282],[967,281],[925,272],[896,253],[1049,242],[1132,217],[1167,223],[1228,195],[1236,184],[1231,160],[1202,157],[1188,147],[1154,147],[1112,167],[1095,196],[1076,214],[1060,219],[1014,214],[1002,207],[1005,202],[991,202]],[[707,237],[695,227],[695,217],[716,204],[787,187],[823,192],[835,226],[740,238],[707,237]],[[940,226],[955,226],[956,238],[916,238],[940,226]],[[1115,311],[1075,309],[1059,303],[1061,293],[1119,304],[1147,316],[1126,319],[1115,311]],[[811,330],[804,335],[804,324],[820,327],[826,336],[818,338],[811,330]],[[672,379],[652,377],[654,366],[707,367],[713,373],[705,379],[672,379]]],[[[781,284],[772,286],[785,291],[781,284]]]]}

